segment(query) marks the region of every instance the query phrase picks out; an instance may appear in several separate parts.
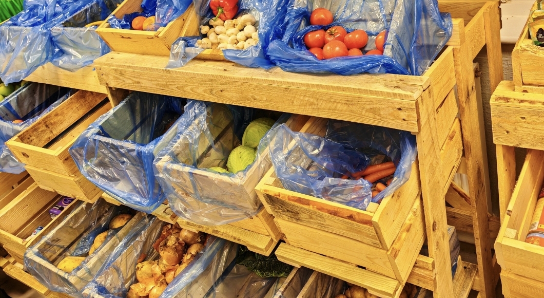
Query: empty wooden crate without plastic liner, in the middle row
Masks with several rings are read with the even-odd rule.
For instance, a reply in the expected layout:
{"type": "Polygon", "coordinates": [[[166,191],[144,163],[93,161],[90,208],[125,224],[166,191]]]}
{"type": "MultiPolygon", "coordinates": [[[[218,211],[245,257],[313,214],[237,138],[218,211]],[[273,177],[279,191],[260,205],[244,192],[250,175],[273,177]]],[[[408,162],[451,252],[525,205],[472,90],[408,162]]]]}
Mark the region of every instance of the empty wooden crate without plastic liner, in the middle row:
{"type": "Polygon", "coordinates": [[[79,173],[68,149],[110,107],[106,94],[80,90],[6,144],[40,187],[95,202],[102,191],[79,173]]]}

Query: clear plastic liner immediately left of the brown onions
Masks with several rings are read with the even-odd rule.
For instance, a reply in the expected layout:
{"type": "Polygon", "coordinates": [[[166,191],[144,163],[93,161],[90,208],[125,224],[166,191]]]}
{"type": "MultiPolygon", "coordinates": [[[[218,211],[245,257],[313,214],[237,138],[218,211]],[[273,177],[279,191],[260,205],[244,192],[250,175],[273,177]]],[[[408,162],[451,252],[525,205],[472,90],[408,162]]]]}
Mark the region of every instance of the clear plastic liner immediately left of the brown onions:
{"type": "Polygon", "coordinates": [[[142,229],[123,239],[104,269],[82,291],[83,296],[126,297],[130,286],[137,282],[135,274],[140,255],[145,254],[146,260],[157,258],[158,253],[152,245],[159,238],[163,224],[157,217],[150,216],[142,229]]]}

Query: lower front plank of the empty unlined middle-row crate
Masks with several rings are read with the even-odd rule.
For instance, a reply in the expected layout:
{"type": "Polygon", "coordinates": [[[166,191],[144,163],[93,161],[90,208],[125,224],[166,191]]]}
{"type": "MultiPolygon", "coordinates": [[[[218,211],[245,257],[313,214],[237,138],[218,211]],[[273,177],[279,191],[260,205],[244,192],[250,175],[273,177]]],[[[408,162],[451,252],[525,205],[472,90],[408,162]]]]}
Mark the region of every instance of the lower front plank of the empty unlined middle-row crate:
{"type": "Polygon", "coordinates": [[[41,188],[54,190],[63,196],[94,203],[103,193],[98,186],[92,184],[82,174],[65,176],[28,165],[26,168],[41,188]]]}

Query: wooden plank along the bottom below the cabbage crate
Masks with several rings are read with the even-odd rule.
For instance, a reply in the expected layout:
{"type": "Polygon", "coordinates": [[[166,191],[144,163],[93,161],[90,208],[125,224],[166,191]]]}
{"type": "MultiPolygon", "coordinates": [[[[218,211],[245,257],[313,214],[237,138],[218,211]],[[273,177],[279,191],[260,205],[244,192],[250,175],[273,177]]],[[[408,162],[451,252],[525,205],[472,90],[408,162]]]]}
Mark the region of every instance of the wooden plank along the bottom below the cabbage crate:
{"type": "Polygon", "coordinates": [[[265,256],[269,256],[277,244],[277,241],[274,241],[272,238],[270,238],[270,236],[240,229],[231,226],[230,224],[223,224],[221,226],[203,226],[201,224],[183,220],[180,217],[178,217],[177,223],[180,224],[182,228],[199,230],[204,233],[212,234],[214,236],[245,245],[250,251],[264,254],[265,256]]]}

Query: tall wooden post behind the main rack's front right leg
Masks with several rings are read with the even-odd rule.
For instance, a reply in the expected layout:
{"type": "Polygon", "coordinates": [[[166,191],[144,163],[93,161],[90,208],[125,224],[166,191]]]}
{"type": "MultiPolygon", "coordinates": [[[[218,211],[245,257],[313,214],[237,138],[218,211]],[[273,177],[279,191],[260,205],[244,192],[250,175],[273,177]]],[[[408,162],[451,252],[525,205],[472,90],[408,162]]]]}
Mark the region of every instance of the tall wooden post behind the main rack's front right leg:
{"type": "MultiPolygon", "coordinates": [[[[482,284],[483,295],[489,298],[495,295],[495,287],[492,285],[493,265],[487,223],[487,193],[490,190],[486,188],[484,177],[484,147],[481,143],[482,132],[479,124],[480,120],[483,121],[483,118],[479,117],[481,104],[478,104],[474,93],[475,83],[472,60],[475,55],[474,52],[471,53],[470,44],[467,42],[461,47],[454,47],[453,54],[462,123],[463,149],[467,160],[468,188],[471,193],[478,274],[480,280],[485,281],[485,284],[482,284]]],[[[485,162],[487,163],[487,161],[485,162]]]]}

